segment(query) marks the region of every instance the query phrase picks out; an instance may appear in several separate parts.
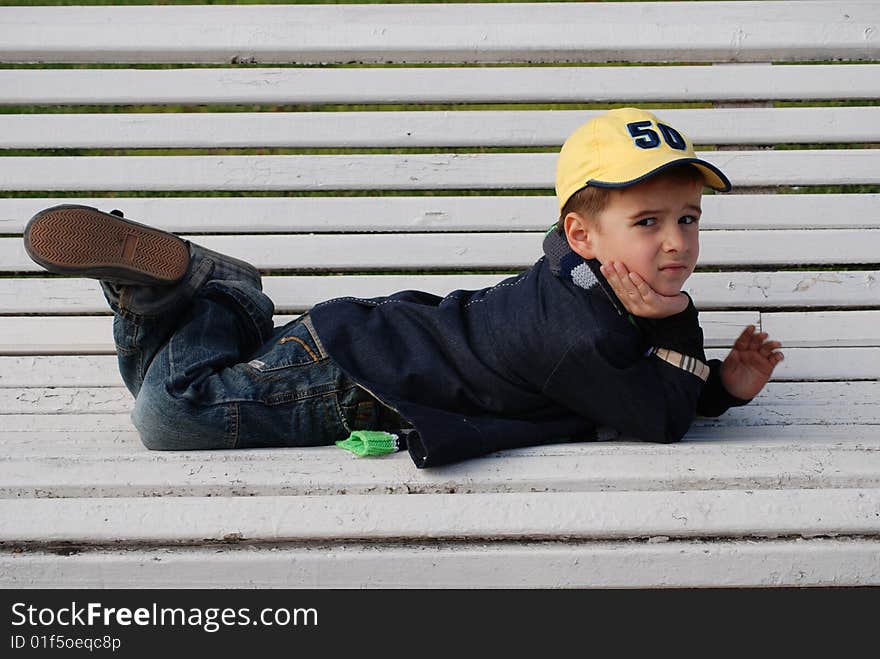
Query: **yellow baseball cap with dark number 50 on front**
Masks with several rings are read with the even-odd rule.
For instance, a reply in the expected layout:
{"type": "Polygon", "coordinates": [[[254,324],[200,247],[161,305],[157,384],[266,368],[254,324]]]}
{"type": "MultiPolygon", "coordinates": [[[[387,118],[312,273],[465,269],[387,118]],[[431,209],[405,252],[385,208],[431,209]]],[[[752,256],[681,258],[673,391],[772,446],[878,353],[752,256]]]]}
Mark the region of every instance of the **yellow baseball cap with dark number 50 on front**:
{"type": "Polygon", "coordinates": [[[715,165],[700,160],[691,141],[650,112],[620,108],[575,130],[559,152],[556,198],[559,210],[588,185],[622,188],[679,163],[690,163],[706,185],[721,192],[730,181],[715,165]]]}

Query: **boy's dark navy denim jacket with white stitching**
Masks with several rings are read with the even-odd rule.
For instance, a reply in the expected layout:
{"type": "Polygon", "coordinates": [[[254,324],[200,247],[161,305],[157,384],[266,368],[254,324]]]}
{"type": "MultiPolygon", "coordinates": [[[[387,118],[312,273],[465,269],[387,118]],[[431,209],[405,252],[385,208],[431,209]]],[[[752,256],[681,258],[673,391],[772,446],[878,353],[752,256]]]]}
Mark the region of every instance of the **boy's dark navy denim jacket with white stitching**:
{"type": "Polygon", "coordinates": [[[414,426],[418,467],[594,441],[599,429],[676,442],[697,413],[749,402],[724,390],[719,360],[706,368],[693,301],[668,318],[634,317],[599,266],[551,230],[543,257],[490,288],[338,298],[310,314],[339,366],[414,426]]]}

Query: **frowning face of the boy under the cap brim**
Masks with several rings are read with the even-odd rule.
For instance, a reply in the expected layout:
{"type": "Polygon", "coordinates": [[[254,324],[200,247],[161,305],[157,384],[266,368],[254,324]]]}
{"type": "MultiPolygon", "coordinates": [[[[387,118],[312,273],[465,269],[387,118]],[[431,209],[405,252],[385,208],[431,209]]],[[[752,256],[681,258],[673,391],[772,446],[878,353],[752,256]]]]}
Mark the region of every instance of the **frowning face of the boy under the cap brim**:
{"type": "Polygon", "coordinates": [[[584,258],[622,262],[661,295],[676,295],[700,254],[702,192],[702,181],[662,174],[611,190],[592,222],[569,214],[576,216],[565,223],[569,244],[584,258]]]}

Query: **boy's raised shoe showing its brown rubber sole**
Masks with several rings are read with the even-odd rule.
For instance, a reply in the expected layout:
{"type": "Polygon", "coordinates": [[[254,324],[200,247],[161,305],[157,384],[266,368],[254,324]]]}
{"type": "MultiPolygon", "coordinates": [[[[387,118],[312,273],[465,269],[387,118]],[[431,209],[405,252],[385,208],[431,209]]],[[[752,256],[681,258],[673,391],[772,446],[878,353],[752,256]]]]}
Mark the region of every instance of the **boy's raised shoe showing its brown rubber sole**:
{"type": "Polygon", "coordinates": [[[75,204],[34,215],[24,248],[49,272],[118,284],[166,286],[189,267],[189,246],[174,234],[75,204]]]}

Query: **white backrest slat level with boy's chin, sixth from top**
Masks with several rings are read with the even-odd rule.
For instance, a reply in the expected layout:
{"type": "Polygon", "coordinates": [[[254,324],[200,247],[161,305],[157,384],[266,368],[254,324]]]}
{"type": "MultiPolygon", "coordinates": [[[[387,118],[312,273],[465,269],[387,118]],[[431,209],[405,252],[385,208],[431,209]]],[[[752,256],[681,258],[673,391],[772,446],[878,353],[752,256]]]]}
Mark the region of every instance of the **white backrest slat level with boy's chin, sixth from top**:
{"type": "MultiPolygon", "coordinates": [[[[183,237],[261,270],[506,271],[532,266],[542,255],[543,234],[413,234],[405,238],[405,249],[401,237],[392,234],[183,237]]],[[[702,267],[876,263],[880,229],[707,231],[700,243],[702,267]]],[[[27,255],[20,238],[0,238],[0,263],[7,272],[45,272],[27,255]]]]}

